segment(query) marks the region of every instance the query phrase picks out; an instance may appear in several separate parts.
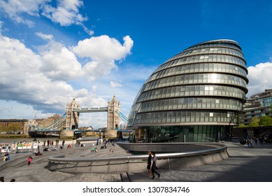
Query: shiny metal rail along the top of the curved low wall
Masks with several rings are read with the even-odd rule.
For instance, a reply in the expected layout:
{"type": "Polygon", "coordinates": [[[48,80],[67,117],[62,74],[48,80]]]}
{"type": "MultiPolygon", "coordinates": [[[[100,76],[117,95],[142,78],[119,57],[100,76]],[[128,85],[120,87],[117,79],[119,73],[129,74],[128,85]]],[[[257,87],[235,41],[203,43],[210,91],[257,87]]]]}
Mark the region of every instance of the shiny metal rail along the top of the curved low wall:
{"type": "MultiPolygon", "coordinates": [[[[213,146],[220,146],[219,148],[204,149],[201,151],[192,151],[187,153],[159,153],[157,159],[169,159],[169,158],[182,158],[192,157],[196,155],[208,155],[211,153],[218,153],[220,151],[226,151],[227,146],[224,144],[213,144],[213,146]]],[[[51,162],[114,162],[114,161],[129,161],[129,160],[146,160],[148,155],[127,155],[118,157],[106,157],[106,158],[65,158],[65,155],[58,155],[48,158],[51,162]]]]}

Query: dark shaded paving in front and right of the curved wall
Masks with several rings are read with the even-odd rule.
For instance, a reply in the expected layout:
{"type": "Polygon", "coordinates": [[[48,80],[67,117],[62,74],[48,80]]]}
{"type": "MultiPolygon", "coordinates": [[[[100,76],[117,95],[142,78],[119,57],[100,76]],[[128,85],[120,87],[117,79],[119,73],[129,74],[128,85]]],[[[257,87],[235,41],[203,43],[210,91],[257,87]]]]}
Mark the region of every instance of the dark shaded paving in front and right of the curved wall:
{"type": "Polygon", "coordinates": [[[272,144],[247,148],[226,142],[230,158],[209,165],[186,169],[160,170],[161,177],[152,180],[146,173],[129,173],[134,182],[272,182],[272,144]]]}

